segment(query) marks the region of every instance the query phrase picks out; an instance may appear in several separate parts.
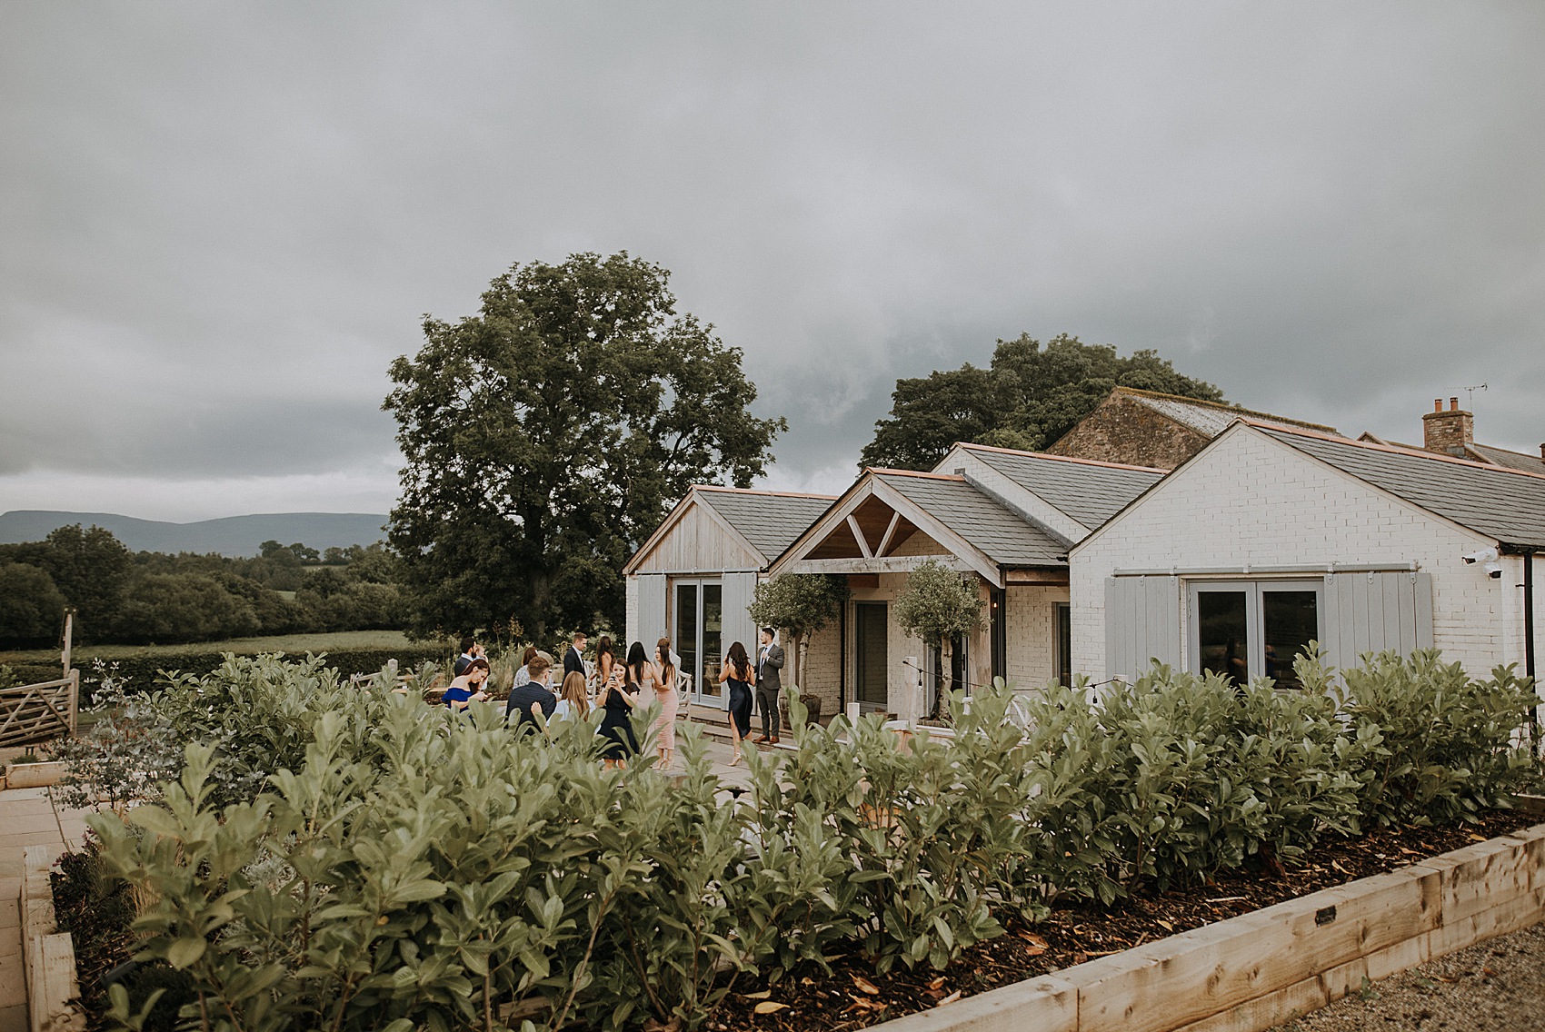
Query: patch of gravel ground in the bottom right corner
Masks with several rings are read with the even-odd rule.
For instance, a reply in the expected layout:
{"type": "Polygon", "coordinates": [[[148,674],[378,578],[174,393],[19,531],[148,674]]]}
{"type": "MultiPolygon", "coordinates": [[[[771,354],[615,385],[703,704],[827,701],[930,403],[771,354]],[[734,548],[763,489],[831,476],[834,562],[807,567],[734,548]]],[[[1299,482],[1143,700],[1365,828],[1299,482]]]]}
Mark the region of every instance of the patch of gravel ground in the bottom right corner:
{"type": "Polygon", "coordinates": [[[1545,1029],[1545,924],[1353,992],[1273,1032],[1526,1032],[1545,1029]]]}

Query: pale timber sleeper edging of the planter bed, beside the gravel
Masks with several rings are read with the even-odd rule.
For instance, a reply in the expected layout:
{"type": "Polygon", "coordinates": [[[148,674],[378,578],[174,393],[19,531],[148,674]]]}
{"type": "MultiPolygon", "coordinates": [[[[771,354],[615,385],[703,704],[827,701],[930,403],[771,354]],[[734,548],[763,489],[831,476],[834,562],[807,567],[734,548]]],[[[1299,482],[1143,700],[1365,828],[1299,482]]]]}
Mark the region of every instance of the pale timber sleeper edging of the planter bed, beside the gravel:
{"type": "Polygon", "coordinates": [[[1545,825],[881,1026],[1259,1032],[1545,919],[1545,825]]]}

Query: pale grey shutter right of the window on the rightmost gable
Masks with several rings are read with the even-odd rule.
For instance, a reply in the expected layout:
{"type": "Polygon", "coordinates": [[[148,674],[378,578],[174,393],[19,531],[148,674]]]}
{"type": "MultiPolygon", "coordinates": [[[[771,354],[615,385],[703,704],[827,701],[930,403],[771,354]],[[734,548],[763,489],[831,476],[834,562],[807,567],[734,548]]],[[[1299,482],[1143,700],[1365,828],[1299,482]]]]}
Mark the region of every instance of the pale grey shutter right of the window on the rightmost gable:
{"type": "Polygon", "coordinates": [[[1326,658],[1358,664],[1366,652],[1432,647],[1432,575],[1332,573],[1326,578],[1326,658]]]}

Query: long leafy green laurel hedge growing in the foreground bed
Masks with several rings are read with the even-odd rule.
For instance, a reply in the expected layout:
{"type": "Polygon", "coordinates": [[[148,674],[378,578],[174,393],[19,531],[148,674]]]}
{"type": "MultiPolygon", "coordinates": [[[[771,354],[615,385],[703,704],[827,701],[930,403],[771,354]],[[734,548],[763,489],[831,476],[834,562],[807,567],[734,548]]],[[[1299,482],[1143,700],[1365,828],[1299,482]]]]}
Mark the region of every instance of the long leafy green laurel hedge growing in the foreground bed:
{"type": "MultiPolygon", "coordinates": [[[[144,958],[190,979],[182,1017],[204,1027],[695,1029],[746,978],[834,953],[942,967],[1060,896],[1472,817],[1528,765],[1511,670],[1380,657],[1341,692],[1312,652],[1298,674],[1304,692],[1162,666],[1098,697],[998,683],[949,697],[950,740],[822,728],[796,691],[794,751],[748,749],[749,793],[725,805],[692,731],[681,777],[647,745],[612,771],[598,715],[522,734],[315,658],[232,657],[122,697],[179,774],[128,823],[91,823],[154,901],[144,958]]],[[[128,1024],[153,1003],[113,990],[128,1024]]]]}

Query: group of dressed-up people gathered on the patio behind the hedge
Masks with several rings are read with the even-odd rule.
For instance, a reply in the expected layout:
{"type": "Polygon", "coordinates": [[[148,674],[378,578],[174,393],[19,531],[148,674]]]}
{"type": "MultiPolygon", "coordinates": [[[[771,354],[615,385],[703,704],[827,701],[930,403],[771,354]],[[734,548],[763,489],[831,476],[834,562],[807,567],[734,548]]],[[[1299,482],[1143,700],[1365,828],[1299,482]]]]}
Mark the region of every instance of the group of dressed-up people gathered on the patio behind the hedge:
{"type": "MultiPolygon", "coordinates": [[[[718,677],[720,684],[729,686],[729,726],[734,737],[731,766],[740,762],[740,743],[751,737],[752,689],[762,708],[762,737],[757,742],[777,745],[777,694],[782,687],[779,670],[783,666],[783,649],[776,644],[771,627],[763,627],[760,638],[756,663],[742,643],[731,644],[718,677]]],[[[655,748],[660,763],[669,766],[675,754],[675,721],[680,708],[677,686],[680,658],[671,650],[671,640],[661,638],[655,643],[652,660],[644,652],[644,644],[635,641],[620,661],[612,640],[603,637],[596,641],[593,672],[584,661],[587,644],[589,635],[582,630],[575,632],[569,650],[564,652],[562,678],[556,689],[553,689],[553,658],[536,646],[527,646],[505,703],[505,720],[513,718],[518,725],[541,728],[552,720],[589,720],[590,711],[599,709],[598,734],[607,740],[601,757],[607,766],[623,766],[629,757],[638,754],[630,714],[649,700],[644,694],[647,691],[660,703],[654,723],[658,732],[655,748]]],[[[451,672],[454,680],[445,689],[442,700],[453,711],[465,711],[471,703],[490,698],[487,681],[493,669],[474,638],[462,640],[462,652],[451,672]]]]}

